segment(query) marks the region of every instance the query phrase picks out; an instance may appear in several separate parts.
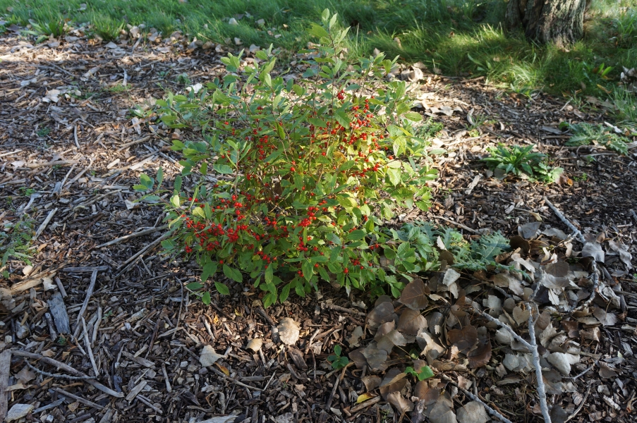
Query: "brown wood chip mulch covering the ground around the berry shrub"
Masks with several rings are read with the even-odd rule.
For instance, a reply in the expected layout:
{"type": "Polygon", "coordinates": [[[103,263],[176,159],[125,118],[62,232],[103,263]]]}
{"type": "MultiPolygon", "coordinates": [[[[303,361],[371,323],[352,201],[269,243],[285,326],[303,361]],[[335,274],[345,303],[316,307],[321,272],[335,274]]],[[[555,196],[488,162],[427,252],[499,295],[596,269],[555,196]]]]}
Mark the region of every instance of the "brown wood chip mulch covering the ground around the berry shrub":
{"type": "MultiPolygon", "coordinates": [[[[326,362],[334,345],[365,326],[358,308],[370,303],[365,293],[326,286],[322,295],[264,310],[257,290],[231,285],[231,295],[213,295],[205,306],[186,288],[197,267],[160,255],[162,211],[133,203],[131,187],[142,171],[162,166],[166,179],[180,172],[170,140],[187,135],[135,121],[129,110],[164,89],[183,90],[183,73],[193,84],[224,74],[222,48],[190,51],[178,35],[167,40],[169,47],[104,46],[81,35],[37,45],[11,32],[0,38],[0,222],[25,219],[37,231],[33,265],[8,262],[11,276],[0,284],[0,388],[11,393],[8,402],[0,398],[0,414],[23,403],[32,405],[29,421],[42,422],[381,421],[382,407],[352,403],[364,390],[360,380],[326,362]],[[277,337],[285,317],[300,324],[293,347],[277,337]],[[254,338],[263,342],[257,352],[247,348],[254,338]],[[204,345],[222,355],[208,367],[200,362],[204,345]]],[[[445,125],[433,142],[447,153],[434,159],[434,207],[400,219],[455,222],[467,235],[514,234],[538,217],[558,227],[546,196],[584,232],[606,231],[637,257],[634,154],[566,148],[564,135],[547,129],[603,122],[602,109],[482,82],[432,75],[415,87],[423,113],[445,125]],[[440,106],[459,110],[432,111],[440,106]],[[489,120],[478,135],[466,130],[468,114],[489,120]],[[497,142],[537,144],[572,185],[490,177],[477,159],[497,142]]],[[[626,322],[634,326],[637,300],[628,298],[626,322]]],[[[622,347],[635,345],[635,332],[605,335],[599,353],[621,351],[637,372],[622,347]]],[[[635,395],[626,393],[629,409],[635,395]]],[[[601,400],[589,411],[574,421],[618,415],[601,400]]]]}

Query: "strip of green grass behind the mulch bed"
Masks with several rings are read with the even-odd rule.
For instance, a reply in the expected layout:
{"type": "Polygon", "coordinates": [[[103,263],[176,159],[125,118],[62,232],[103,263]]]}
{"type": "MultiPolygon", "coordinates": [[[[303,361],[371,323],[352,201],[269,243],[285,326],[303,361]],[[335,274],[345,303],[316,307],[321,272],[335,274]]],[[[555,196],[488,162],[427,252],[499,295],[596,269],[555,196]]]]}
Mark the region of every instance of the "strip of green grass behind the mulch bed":
{"type": "Polygon", "coordinates": [[[521,94],[544,90],[617,97],[629,107],[618,111],[618,120],[634,123],[634,95],[628,94],[627,100],[625,92],[615,92],[621,66],[637,66],[634,1],[591,0],[585,38],[568,51],[506,34],[500,25],[506,8],[502,0],[0,0],[0,14],[9,7],[7,22],[27,25],[31,20],[44,28],[57,28],[63,18],[91,23],[92,33],[107,40],[116,38],[126,24],[143,23],[164,37],[181,30],[190,39],[224,42],[238,37],[245,46],[272,43],[296,51],[310,41],[305,31],[310,22],[330,8],[339,13],[340,25],[352,27],[352,54],[368,55],[377,48],[406,62],[422,61],[445,75],[484,75],[521,94]],[[80,10],[82,3],[87,4],[85,10],[80,10]],[[233,17],[238,25],[229,24],[233,17]],[[257,24],[260,19],[265,25],[257,24]],[[612,67],[605,78],[596,73],[602,63],[612,67]]]}

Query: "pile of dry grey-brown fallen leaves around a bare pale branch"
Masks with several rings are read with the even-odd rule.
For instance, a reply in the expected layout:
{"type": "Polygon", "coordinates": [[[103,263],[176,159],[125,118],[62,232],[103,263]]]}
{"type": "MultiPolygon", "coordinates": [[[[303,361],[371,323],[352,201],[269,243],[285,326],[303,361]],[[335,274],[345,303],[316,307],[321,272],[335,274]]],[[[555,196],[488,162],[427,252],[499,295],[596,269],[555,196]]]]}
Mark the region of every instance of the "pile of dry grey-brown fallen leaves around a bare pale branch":
{"type": "MultiPolygon", "coordinates": [[[[461,274],[451,260],[427,279],[414,278],[398,300],[378,298],[365,329],[354,329],[348,339],[353,349],[349,357],[362,370],[366,391],[358,403],[380,396],[398,415],[411,413],[412,422],[484,423],[485,405],[512,421],[540,415],[528,348],[533,343],[552,422],[564,422],[586,399],[576,385],[579,377],[592,367],[601,379],[621,373],[621,354],[600,360],[595,353],[600,329],[621,324],[626,317],[617,283],[631,269],[626,247],[604,234],[587,234],[581,245],[559,229],[540,230],[540,222],[521,226],[518,232],[510,240],[511,251],[496,259],[512,271],[461,274]],[[593,260],[602,269],[597,286],[591,277],[593,260]],[[612,269],[617,265],[624,269],[612,269]],[[533,342],[529,322],[535,329],[533,342]],[[478,400],[454,410],[454,398],[472,388],[478,400]],[[494,402],[507,388],[514,388],[517,402],[526,407],[522,414],[504,412],[494,402]]],[[[625,326],[622,329],[635,330],[625,326]]],[[[602,399],[619,410],[617,397],[607,394],[602,399]]]]}

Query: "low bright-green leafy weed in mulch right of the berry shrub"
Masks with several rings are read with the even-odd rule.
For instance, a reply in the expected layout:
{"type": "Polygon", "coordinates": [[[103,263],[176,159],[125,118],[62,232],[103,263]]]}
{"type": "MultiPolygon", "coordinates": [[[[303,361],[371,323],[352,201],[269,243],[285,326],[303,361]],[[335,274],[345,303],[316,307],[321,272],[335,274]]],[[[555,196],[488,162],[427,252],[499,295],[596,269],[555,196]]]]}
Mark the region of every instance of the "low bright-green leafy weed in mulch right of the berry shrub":
{"type": "Polygon", "coordinates": [[[485,157],[483,161],[491,169],[502,169],[504,173],[513,173],[521,176],[526,173],[530,178],[535,178],[543,183],[556,183],[564,173],[563,168],[552,167],[546,161],[546,155],[532,152],[535,145],[520,147],[512,145],[507,147],[499,144],[497,147],[487,149],[490,157],[485,157]]]}

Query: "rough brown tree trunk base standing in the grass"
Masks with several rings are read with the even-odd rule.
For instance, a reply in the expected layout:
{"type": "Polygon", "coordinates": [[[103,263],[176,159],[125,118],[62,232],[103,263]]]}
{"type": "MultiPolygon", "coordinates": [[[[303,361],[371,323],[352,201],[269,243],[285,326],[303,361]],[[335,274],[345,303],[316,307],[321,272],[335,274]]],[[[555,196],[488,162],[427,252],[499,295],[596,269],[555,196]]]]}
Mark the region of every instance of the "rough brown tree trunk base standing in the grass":
{"type": "Polygon", "coordinates": [[[566,47],[584,35],[585,7],[586,0],[509,0],[504,22],[535,42],[566,47]]]}

